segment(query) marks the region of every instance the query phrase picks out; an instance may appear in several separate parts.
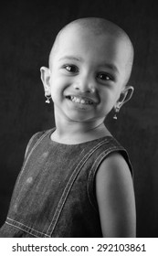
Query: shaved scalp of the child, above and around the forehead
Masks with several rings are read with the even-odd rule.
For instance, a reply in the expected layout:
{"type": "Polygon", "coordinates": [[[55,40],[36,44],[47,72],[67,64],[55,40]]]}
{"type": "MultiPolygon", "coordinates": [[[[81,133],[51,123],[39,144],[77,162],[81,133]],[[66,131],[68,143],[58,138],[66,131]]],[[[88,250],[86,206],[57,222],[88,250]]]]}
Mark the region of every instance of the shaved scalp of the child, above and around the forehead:
{"type": "Polygon", "coordinates": [[[121,27],[118,27],[111,21],[108,21],[104,18],[99,17],[87,17],[87,18],[80,18],[77,20],[74,20],[70,22],[68,25],[63,27],[59,32],[55,39],[54,45],[50,51],[49,55],[49,67],[51,67],[52,59],[54,59],[54,56],[58,52],[58,48],[60,47],[60,41],[67,37],[68,31],[71,29],[79,30],[79,31],[88,31],[91,35],[94,35],[95,37],[100,36],[110,36],[113,37],[114,40],[120,40],[123,42],[123,48],[127,48],[127,63],[126,63],[126,69],[127,69],[127,79],[126,83],[130,78],[131,71],[132,71],[132,62],[133,62],[133,47],[132,47],[132,41],[130,37],[124,32],[124,30],[121,29],[121,27]]]}

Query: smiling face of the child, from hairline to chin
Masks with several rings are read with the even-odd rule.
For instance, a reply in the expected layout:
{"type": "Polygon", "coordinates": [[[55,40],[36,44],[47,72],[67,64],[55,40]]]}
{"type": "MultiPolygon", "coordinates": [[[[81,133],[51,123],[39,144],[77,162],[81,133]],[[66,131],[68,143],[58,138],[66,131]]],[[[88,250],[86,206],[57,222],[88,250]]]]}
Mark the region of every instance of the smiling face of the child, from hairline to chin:
{"type": "Polygon", "coordinates": [[[55,114],[73,122],[104,120],[125,89],[128,50],[121,38],[80,27],[64,31],[45,79],[55,114]]]}

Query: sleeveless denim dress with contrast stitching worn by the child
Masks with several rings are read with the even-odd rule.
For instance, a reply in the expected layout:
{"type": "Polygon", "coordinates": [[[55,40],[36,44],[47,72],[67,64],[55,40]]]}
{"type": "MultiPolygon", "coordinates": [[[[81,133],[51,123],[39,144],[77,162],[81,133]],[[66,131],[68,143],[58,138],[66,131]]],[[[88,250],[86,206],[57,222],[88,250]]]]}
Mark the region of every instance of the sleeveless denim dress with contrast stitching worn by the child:
{"type": "Polygon", "coordinates": [[[58,144],[53,130],[36,133],[28,143],[0,237],[102,237],[95,193],[100,163],[125,149],[112,136],[81,144],[58,144]]]}

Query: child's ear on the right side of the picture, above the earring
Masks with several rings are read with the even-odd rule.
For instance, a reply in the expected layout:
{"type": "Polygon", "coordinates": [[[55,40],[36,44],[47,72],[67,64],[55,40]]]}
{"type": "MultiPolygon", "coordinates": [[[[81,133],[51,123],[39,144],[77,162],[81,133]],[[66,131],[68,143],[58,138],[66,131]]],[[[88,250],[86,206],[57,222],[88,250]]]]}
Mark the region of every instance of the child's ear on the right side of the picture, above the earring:
{"type": "Polygon", "coordinates": [[[126,86],[126,88],[123,91],[121,91],[120,98],[116,102],[116,107],[120,109],[124,103],[126,103],[127,101],[130,101],[130,99],[132,98],[133,91],[134,89],[132,86],[126,86]]]}

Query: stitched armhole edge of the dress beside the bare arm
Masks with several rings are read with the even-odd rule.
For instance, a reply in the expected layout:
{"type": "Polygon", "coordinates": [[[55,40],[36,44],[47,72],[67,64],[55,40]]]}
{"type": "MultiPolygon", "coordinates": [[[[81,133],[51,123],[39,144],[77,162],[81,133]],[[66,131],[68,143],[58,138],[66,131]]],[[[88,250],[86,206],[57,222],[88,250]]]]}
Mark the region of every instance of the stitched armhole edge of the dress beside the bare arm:
{"type": "MultiPolygon", "coordinates": [[[[112,147],[108,148],[107,150],[105,150],[104,152],[102,152],[98,158],[95,160],[95,162],[93,163],[93,165],[91,166],[90,168],[90,174],[89,174],[89,178],[88,178],[88,187],[87,187],[87,191],[88,191],[88,196],[89,196],[89,199],[90,199],[90,204],[92,205],[93,208],[95,208],[95,210],[97,211],[97,208],[96,206],[92,203],[92,200],[90,198],[90,175],[92,174],[92,171],[93,171],[93,176],[92,176],[92,182],[94,181],[94,176],[96,175],[97,173],[97,170],[100,166],[100,163],[107,157],[107,155],[110,155],[112,152],[116,152],[116,151],[120,151],[120,150],[123,150],[123,147],[118,145],[113,145],[112,147]],[[98,162],[98,163],[97,163],[98,162]],[[96,165],[97,164],[97,165],[96,165]],[[96,166],[95,166],[96,165],[96,166]]],[[[94,197],[93,197],[94,198],[94,197]]]]}

